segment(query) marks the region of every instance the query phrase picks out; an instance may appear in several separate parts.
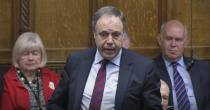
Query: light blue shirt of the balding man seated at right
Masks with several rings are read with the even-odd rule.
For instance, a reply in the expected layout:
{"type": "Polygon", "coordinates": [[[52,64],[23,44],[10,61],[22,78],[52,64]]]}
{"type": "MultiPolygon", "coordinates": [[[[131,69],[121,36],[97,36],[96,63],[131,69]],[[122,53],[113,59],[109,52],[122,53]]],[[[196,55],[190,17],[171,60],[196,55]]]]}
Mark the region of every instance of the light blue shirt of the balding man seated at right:
{"type": "MultiPolygon", "coordinates": [[[[174,110],[178,110],[176,91],[175,91],[175,88],[174,88],[173,67],[172,67],[171,63],[168,62],[164,57],[163,57],[163,59],[164,59],[165,65],[167,67],[167,71],[168,71],[170,79],[171,79],[174,110]]],[[[181,77],[184,81],[185,88],[186,88],[186,91],[187,91],[187,95],[188,95],[188,98],[189,98],[189,101],[190,101],[190,109],[191,110],[198,110],[197,103],[196,103],[196,100],[195,100],[194,91],[193,91],[193,86],[192,86],[192,82],[191,82],[191,78],[190,78],[189,72],[186,69],[186,66],[185,66],[185,63],[184,63],[184,60],[183,60],[183,56],[179,59],[179,61],[177,61],[177,63],[179,63],[179,65],[177,65],[177,71],[179,72],[179,74],[181,75],[181,77]]]]}

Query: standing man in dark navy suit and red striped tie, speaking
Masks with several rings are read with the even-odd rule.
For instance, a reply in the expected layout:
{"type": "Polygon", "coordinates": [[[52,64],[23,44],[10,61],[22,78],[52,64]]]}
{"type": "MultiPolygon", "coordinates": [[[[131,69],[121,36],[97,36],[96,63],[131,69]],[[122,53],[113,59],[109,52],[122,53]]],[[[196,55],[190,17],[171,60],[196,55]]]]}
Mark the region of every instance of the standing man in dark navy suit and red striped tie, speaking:
{"type": "Polygon", "coordinates": [[[92,28],[97,48],[68,57],[48,110],[161,110],[160,79],[152,60],[122,48],[123,13],[103,7],[92,28]]]}

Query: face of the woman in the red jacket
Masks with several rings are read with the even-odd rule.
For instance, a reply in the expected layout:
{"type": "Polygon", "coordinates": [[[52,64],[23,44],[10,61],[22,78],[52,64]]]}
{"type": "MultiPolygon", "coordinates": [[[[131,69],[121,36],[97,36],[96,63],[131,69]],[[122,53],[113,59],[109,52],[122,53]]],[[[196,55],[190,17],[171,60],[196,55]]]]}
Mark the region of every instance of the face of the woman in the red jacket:
{"type": "Polygon", "coordinates": [[[41,64],[42,55],[40,48],[25,50],[19,58],[19,65],[22,72],[33,72],[41,64]]]}

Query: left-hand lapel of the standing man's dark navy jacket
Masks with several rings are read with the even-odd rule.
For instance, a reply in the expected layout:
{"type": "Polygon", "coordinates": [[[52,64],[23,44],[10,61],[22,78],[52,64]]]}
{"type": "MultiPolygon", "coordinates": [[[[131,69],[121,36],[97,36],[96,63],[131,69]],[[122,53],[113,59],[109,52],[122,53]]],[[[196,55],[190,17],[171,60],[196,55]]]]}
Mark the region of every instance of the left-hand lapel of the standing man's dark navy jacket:
{"type": "Polygon", "coordinates": [[[79,66],[79,71],[78,71],[78,78],[76,81],[76,90],[75,90],[75,105],[73,105],[73,110],[79,110],[80,109],[80,104],[81,100],[83,97],[83,91],[87,82],[87,78],[95,57],[95,50],[92,50],[89,55],[87,55],[86,58],[84,58],[84,61],[81,62],[79,66]]]}

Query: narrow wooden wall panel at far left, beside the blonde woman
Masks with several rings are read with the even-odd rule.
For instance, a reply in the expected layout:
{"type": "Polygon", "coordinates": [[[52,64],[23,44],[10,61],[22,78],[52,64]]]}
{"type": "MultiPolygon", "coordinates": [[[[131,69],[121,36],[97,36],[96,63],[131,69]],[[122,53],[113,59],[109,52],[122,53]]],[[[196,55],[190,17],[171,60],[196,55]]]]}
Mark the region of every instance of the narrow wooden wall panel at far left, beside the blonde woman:
{"type": "Polygon", "coordinates": [[[12,47],[12,1],[0,0],[0,63],[10,62],[12,47]]]}

